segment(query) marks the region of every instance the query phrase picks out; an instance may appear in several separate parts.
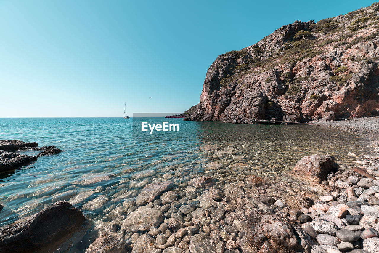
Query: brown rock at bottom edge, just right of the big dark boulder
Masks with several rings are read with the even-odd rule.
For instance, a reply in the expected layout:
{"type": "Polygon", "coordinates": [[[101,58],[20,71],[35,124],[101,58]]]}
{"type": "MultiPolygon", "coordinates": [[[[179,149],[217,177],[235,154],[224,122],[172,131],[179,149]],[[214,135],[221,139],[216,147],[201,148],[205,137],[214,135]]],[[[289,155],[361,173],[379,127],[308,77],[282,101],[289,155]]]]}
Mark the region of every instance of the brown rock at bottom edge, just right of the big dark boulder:
{"type": "Polygon", "coordinates": [[[121,235],[116,233],[102,233],[91,245],[86,253],[126,253],[127,243],[121,235]]]}

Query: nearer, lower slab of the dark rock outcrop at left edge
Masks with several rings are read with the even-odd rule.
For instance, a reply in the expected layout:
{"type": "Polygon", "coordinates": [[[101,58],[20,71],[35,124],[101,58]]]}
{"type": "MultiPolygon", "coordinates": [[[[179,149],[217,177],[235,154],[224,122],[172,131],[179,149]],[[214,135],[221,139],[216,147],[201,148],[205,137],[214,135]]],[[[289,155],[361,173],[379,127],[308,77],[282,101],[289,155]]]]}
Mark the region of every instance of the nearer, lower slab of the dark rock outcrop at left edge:
{"type": "Polygon", "coordinates": [[[13,152],[0,150],[0,173],[5,171],[16,170],[22,165],[37,160],[38,156],[20,155],[13,152]]]}

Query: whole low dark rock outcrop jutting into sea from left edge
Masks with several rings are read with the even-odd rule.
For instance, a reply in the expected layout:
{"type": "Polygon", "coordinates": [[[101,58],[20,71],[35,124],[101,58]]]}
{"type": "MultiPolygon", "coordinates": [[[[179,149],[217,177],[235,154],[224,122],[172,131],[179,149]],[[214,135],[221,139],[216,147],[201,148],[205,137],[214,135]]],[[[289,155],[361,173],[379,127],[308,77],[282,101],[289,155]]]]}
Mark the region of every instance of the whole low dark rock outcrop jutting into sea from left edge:
{"type": "Polygon", "coordinates": [[[23,142],[20,140],[0,140],[0,173],[13,171],[17,168],[27,165],[38,157],[57,154],[61,152],[55,146],[38,147],[36,142],[23,142]],[[41,151],[35,156],[20,154],[22,151],[41,151]]]}

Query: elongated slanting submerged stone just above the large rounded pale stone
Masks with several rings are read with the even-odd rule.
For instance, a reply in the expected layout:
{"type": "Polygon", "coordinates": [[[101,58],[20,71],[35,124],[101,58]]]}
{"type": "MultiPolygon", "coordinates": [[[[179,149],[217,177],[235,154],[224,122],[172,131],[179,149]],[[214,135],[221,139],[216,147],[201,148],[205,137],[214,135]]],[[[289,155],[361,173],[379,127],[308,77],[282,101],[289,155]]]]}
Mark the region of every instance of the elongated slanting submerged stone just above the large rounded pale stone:
{"type": "Polygon", "coordinates": [[[154,182],[152,184],[146,185],[136,198],[136,204],[138,206],[143,206],[149,202],[152,202],[158,195],[162,192],[171,189],[174,186],[173,182],[154,182]]]}

